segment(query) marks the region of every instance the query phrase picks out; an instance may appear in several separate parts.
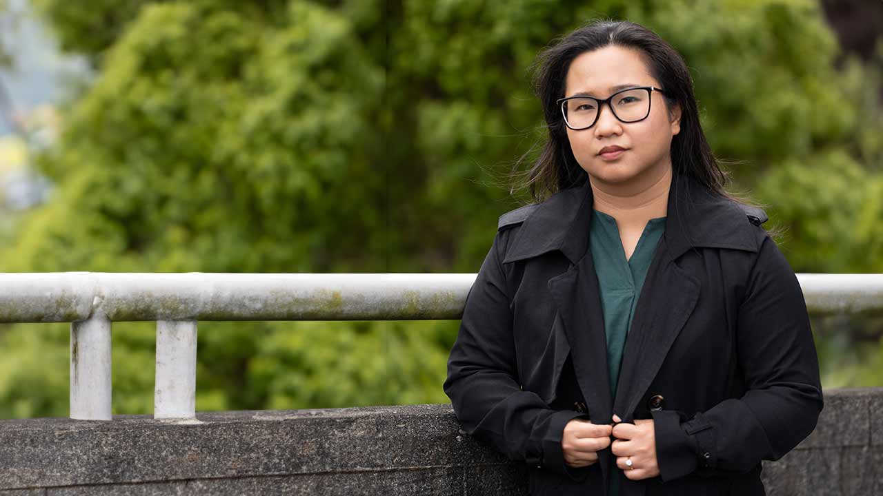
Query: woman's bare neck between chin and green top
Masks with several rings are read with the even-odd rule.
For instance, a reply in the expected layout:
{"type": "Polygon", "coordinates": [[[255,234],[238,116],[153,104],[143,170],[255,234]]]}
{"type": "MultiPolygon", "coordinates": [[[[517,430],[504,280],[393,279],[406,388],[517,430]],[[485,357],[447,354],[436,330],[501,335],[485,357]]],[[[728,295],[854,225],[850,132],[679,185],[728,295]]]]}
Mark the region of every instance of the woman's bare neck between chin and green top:
{"type": "Polygon", "coordinates": [[[592,186],[592,208],[608,214],[620,225],[643,226],[650,219],[665,217],[672,169],[663,169],[660,177],[648,184],[598,184],[592,186]]]}

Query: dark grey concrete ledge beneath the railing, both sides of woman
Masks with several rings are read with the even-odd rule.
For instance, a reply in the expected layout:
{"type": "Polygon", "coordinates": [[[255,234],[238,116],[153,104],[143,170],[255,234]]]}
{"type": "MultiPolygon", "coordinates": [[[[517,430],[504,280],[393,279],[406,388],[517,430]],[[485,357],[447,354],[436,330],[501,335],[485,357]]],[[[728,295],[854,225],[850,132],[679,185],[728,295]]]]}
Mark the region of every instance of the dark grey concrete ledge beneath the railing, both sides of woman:
{"type": "MultiPolygon", "coordinates": [[[[825,400],[816,431],[765,462],[767,492],[883,494],[883,387],[825,400]]],[[[526,494],[522,469],[449,404],[0,421],[0,495],[509,495],[526,494]]]]}

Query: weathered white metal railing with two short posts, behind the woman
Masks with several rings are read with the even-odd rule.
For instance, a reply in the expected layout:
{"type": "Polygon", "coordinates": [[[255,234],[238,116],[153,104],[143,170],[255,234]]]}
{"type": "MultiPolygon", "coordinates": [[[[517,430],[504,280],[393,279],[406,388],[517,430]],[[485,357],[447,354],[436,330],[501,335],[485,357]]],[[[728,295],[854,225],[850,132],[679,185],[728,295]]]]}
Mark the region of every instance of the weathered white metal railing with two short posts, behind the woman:
{"type": "MultiPolygon", "coordinates": [[[[199,320],[460,319],[476,274],[0,274],[0,322],[71,322],[71,417],[109,420],[110,329],[156,322],[154,417],[195,417],[199,320]]],[[[813,313],[883,311],[883,274],[797,274],[813,313]]]]}

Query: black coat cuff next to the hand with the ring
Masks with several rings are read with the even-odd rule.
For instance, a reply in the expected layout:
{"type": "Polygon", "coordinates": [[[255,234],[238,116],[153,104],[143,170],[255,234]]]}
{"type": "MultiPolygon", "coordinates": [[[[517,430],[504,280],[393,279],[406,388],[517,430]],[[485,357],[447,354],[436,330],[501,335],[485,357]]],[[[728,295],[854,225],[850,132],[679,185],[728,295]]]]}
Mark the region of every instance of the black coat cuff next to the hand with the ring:
{"type": "Polygon", "coordinates": [[[698,468],[698,447],[694,433],[687,433],[675,410],[653,410],[656,436],[656,464],[662,482],[683,477],[698,468]]]}

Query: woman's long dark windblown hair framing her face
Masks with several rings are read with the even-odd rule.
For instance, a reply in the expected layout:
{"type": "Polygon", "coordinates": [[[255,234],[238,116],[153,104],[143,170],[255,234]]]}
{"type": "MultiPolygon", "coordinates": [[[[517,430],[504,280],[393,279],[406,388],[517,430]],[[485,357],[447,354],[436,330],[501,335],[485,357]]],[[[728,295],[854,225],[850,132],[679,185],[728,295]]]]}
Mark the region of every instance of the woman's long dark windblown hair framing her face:
{"type": "Polygon", "coordinates": [[[588,180],[570,149],[561,109],[555,101],[564,96],[564,83],[573,59],[608,45],[637,49],[653,78],[666,90],[664,97],[669,114],[675,103],[680,104],[681,131],[671,142],[673,174],[690,176],[711,192],[736,199],[724,189],[728,174],[718,164],[699,124],[693,81],[683,57],[658,34],[623,20],[592,21],[557,39],[537,56],[532,65],[532,82],[534,93],[542,103],[548,139],[530,169],[519,171],[532,151],[517,160],[510,175],[513,186],[510,191],[529,188],[533,201],[540,202],[555,192],[588,180]]]}

